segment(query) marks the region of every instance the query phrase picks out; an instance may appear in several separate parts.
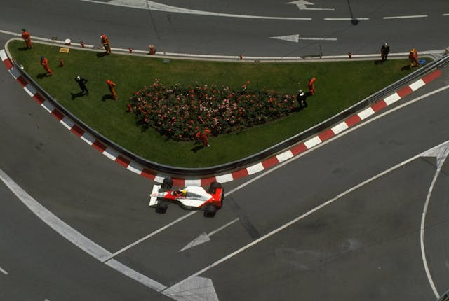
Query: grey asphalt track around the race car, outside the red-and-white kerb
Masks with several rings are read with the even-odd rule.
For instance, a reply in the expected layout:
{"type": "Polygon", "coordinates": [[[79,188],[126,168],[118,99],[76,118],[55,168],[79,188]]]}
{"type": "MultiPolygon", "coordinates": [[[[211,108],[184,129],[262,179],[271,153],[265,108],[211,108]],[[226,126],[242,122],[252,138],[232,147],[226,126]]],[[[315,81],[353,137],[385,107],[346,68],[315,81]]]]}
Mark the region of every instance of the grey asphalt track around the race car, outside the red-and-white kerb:
{"type": "MultiPolygon", "coordinates": [[[[439,46],[434,49],[445,48],[439,46]]],[[[432,187],[424,246],[431,281],[442,294],[449,288],[448,164],[434,186],[435,156],[398,165],[449,140],[449,90],[413,102],[447,85],[445,68],[396,104],[408,106],[264,174],[227,183],[232,193],[215,218],[188,216],[114,259],[168,287],[200,272],[220,300],[435,300],[420,223],[432,187]],[[236,218],[210,241],[179,252],[236,218]]],[[[69,134],[6,71],[0,88],[1,170],[88,239],[114,253],[189,214],[175,206],[155,214],[147,208],[150,181],[69,134]]],[[[170,300],[70,244],[3,184],[0,193],[0,299],[170,300]]]]}

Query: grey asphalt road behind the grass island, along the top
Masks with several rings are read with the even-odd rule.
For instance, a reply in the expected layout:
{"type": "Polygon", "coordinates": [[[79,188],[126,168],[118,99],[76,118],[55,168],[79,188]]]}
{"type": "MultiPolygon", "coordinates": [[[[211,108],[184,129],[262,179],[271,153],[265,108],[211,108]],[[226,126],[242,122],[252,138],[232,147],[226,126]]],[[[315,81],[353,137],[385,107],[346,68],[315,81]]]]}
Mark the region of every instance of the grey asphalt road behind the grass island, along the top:
{"type": "MultiPolygon", "coordinates": [[[[107,1],[104,1],[107,2],[107,1]]],[[[100,34],[107,34],[112,47],[160,52],[244,56],[298,56],[372,54],[390,43],[392,52],[410,48],[436,50],[448,47],[441,36],[449,31],[449,8],[445,1],[315,1],[316,8],[334,11],[299,10],[286,1],[156,1],[159,3],[238,15],[264,15],[312,18],[304,20],[257,20],[203,15],[183,15],[160,11],[107,6],[83,1],[13,1],[1,4],[1,29],[20,32],[27,27],[32,35],[74,43],[100,45],[100,34]],[[187,6],[187,7],[186,7],[187,6]],[[27,8],[27,9],[25,9],[27,8]],[[427,18],[384,20],[384,17],[428,15],[427,18]],[[370,18],[329,20],[324,18],[370,18]],[[356,23],[356,25],[354,25],[356,23]],[[300,34],[304,38],[337,38],[337,41],[292,43],[272,36],[300,34]]]]}

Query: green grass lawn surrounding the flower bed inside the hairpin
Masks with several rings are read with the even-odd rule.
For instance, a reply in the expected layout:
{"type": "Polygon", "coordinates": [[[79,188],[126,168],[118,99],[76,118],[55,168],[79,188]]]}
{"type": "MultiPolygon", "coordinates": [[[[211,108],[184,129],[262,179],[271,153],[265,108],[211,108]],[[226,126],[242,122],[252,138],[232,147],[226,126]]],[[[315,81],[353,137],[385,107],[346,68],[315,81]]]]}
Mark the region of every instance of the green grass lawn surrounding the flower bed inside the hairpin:
{"type": "Polygon", "coordinates": [[[8,49],[14,59],[25,67],[44,90],[65,106],[84,123],[142,158],[177,167],[208,167],[219,165],[272,146],[293,135],[307,130],[336,113],[356,104],[373,92],[381,90],[406,76],[408,59],[388,60],[384,64],[374,61],[347,62],[198,62],[135,55],[107,55],[70,50],[60,53],[60,47],[34,43],[32,50],[25,50],[22,41],[11,41],[8,49]],[[54,76],[43,76],[39,64],[41,55],[48,58],[54,76]],[[59,59],[65,66],[59,67],[59,59]],[[75,76],[88,80],[90,95],[73,97],[79,92],[75,76]],[[277,92],[296,94],[307,90],[307,78],[315,77],[316,94],[309,97],[309,107],[292,113],[287,118],[240,134],[224,134],[210,137],[210,148],[195,150],[194,141],[167,140],[150,129],[142,132],[135,125],[133,113],[126,112],[130,95],[160,78],[170,85],[200,84],[241,87],[250,80],[251,87],[267,87],[277,92]],[[118,101],[105,98],[109,94],[106,80],[114,81],[118,101]]]}

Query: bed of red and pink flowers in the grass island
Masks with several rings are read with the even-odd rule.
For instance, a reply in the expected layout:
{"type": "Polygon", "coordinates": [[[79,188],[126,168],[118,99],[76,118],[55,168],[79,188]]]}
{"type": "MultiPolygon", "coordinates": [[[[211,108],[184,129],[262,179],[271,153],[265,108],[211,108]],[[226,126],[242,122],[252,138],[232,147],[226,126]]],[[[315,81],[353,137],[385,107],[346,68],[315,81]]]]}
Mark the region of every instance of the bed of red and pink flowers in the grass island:
{"type": "Polygon", "coordinates": [[[170,139],[194,140],[206,128],[213,135],[242,131],[293,110],[295,95],[251,90],[248,85],[249,81],[241,90],[216,85],[165,87],[156,79],[130,97],[128,111],[144,130],[153,127],[170,139]]]}

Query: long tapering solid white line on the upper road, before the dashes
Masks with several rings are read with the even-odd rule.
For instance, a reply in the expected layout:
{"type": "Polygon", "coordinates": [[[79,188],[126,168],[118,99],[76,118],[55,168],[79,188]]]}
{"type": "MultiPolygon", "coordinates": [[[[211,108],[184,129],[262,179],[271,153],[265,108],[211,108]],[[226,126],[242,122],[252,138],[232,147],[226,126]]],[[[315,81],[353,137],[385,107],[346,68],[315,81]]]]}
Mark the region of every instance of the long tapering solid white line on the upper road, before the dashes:
{"type": "Polygon", "coordinates": [[[212,15],[214,17],[228,17],[228,18],[247,18],[247,19],[267,19],[267,20],[311,20],[311,18],[293,18],[293,17],[269,17],[264,15],[236,15],[232,13],[214,13],[212,11],[194,10],[189,8],[181,8],[176,6],[169,6],[162,3],[156,3],[147,0],[112,0],[109,2],[95,1],[95,0],[80,0],[84,2],[108,4],[114,6],[123,6],[129,8],[139,8],[146,10],[165,11],[168,13],[185,13],[190,15],[212,15]]]}

